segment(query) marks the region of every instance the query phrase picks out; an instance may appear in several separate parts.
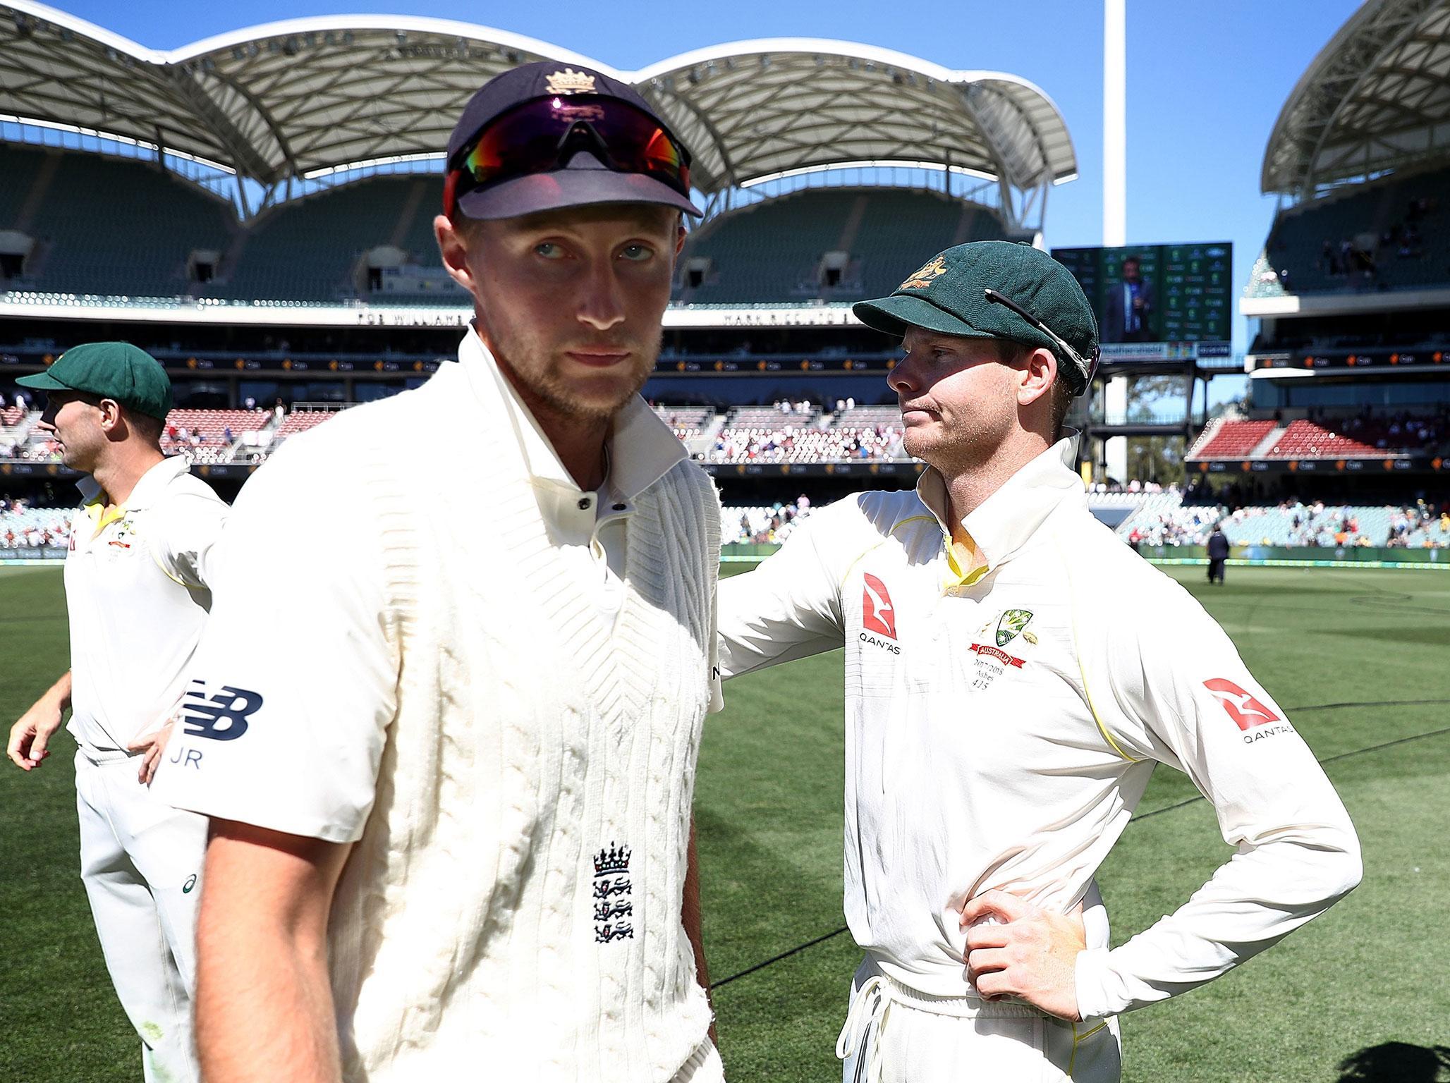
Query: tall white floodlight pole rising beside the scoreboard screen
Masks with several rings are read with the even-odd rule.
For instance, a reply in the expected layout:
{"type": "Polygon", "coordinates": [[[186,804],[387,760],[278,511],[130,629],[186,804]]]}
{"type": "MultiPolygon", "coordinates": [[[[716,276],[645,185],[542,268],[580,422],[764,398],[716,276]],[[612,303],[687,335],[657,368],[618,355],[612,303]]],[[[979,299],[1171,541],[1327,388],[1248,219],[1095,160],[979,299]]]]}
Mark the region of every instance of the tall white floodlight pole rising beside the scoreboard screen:
{"type": "MultiPolygon", "coordinates": [[[[1102,244],[1122,248],[1128,244],[1128,0],[1103,0],[1102,16],[1102,244]]],[[[1105,420],[1125,418],[1127,377],[1108,380],[1102,404],[1105,420]]],[[[1127,438],[1103,441],[1102,464],[1109,477],[1128,483],[1127,438]]]]}

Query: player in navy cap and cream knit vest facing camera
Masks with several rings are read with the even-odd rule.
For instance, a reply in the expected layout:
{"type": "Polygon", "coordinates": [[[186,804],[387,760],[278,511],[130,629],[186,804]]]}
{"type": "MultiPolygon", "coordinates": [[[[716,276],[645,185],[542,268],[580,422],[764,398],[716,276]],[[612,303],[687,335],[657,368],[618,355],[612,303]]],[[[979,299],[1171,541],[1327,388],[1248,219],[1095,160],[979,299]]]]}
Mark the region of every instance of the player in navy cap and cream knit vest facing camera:
{"type": "Polygon", "coordinates": [[[538,62],[447,161],[458,361],[248,481],[157,779],[213,818],[202,1064],[719,1080],[687,883],[719,505],[638,394],[689,154],[631,87],[538,62]],[[261,594],[284,618],[238,636],[261,594]]]}

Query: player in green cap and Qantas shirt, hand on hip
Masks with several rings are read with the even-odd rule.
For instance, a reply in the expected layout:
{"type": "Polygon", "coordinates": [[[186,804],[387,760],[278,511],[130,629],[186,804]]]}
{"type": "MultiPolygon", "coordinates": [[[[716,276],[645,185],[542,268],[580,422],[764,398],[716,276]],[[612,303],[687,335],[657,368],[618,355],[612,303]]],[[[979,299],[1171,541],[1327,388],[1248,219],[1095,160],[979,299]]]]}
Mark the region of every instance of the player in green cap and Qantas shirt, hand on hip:
{"type": "Polygon", "coordinates": [[[1096,326],[1028,245],[941,252],[869,326],[915,491],[816,510],[721,586],[726,677],[845,647],[845,1080],[1119,1076],[1115,1016],[1199,986],[1360,879],[1344,806],[1228,636],[1088,510],[1061,432],[1096,326]],[[1232,857],[1109,950],[1093,874],[1157,763],[1232,857]]]}

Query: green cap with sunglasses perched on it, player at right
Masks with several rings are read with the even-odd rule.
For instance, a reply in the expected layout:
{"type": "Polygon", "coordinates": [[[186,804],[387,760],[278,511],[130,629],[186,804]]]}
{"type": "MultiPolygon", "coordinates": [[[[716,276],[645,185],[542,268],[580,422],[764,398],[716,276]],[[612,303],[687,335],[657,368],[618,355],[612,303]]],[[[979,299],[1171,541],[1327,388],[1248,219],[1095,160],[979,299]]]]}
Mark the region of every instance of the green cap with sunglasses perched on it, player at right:
{"type": "Polygon", "coordinates": [[[1012,241],[973,241],[931,258],[889,297],[858,302],[851,312],[869,328],[905,335],[922,328],[938,335],[1002,338],[1053,351],[1073,391],[1086,389],[1098,355],[1098,320],[1072,271],[1047,252],[1012,241]],[[986,291],[1034,316],[1072,347],[1082,364],[1063,357],[1061,347],[1009,306],[987,300],[986,291]]]}

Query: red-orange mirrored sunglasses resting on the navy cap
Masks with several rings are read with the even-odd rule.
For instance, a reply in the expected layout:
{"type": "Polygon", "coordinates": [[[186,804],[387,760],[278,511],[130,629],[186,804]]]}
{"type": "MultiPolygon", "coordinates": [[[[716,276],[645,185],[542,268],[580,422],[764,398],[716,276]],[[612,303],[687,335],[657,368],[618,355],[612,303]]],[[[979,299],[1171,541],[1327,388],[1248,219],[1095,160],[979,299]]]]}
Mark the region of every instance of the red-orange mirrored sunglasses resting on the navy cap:
{"type": "Polygon", "coordinates": [[[690,154],[658,120],[619,99],[568,94],[502,113],[460,151],[444,181],[444,215],[452,217],[474,188],[560,170],[580,151],[690,196],[690,154]]]}

